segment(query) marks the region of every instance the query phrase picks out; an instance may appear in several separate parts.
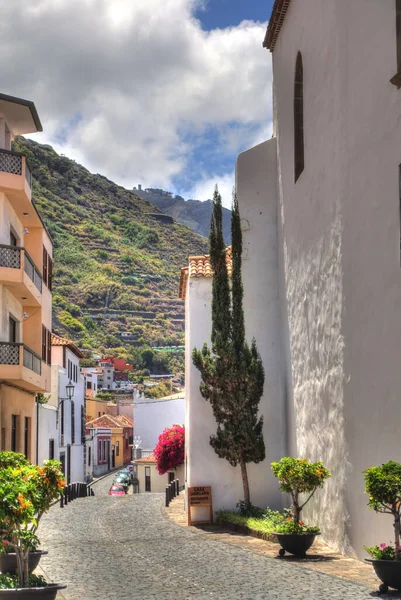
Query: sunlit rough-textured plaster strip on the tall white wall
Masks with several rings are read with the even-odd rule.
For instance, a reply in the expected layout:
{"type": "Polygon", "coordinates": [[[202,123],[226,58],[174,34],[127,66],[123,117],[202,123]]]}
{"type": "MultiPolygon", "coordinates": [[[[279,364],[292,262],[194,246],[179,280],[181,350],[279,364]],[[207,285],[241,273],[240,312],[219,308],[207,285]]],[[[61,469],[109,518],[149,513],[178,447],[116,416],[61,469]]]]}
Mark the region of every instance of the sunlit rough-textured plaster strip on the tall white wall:
{"type": "Polygon", "coordinates": [[[284,246],[290,453],[321,460],[332,477],[305,508],[325,541],[353,553],[347,535],[341,216],[309,248],[284,246]],[[292,380],[292,381],[291,381],[292,380]],[[292,385],[292,389],[291,389],[292,385]],[[291,443],[292,440],[292,443],[291,443]]]}

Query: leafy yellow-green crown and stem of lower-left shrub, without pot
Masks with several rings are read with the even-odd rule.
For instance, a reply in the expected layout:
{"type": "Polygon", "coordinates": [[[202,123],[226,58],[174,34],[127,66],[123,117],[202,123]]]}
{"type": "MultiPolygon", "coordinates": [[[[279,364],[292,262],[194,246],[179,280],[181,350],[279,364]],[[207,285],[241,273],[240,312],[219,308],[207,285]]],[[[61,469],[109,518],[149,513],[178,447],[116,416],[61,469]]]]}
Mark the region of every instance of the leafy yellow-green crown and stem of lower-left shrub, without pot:
{"type": "Polygon", "coordinates": [[[30,587],[29,552],[38,545],[40,519],[64,487],[60,463],[32,465],[21,454],[0,452],[0,540],[15,552],[19,586],[30,587]]]}

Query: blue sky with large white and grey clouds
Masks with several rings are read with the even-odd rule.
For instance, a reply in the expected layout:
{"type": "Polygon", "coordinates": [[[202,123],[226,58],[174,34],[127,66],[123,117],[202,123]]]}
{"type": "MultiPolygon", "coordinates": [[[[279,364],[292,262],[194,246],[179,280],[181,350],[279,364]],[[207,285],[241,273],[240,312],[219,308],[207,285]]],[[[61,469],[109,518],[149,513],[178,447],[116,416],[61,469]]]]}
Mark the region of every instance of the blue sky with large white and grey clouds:
{"type": "Polygon", "coordinates": [[[31,136],[131,189],[231,203],[239,152],[271,136],[273,0],[0,0],[1,92],[31,136]]]}

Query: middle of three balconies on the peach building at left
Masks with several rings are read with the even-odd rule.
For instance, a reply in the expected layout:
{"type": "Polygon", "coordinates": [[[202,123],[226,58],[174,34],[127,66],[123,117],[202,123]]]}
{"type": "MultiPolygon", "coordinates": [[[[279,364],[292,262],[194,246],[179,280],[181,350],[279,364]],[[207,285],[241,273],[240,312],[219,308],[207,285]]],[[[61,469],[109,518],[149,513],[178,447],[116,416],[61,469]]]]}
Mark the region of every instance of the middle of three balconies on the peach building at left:
{"type": "Polygon", "coordinates": [[[25,248],[0,244],[0,284],[23,306],[41,306],[42,275],[25,248]]]}

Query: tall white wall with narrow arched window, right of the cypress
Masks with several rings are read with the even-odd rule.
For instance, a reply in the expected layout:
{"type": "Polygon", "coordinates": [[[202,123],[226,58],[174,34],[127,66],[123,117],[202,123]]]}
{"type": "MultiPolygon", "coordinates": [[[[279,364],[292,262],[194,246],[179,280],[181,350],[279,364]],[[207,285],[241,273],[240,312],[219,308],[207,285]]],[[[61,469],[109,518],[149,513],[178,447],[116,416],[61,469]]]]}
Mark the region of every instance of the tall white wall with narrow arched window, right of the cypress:
{"type": "Polygon", "coordinates": [[[273,53],[289,452],[332,479],[306,517],[335,547],[391,538],[362,470],[399,459],[401,121],[394,2],[290,4],[273,53]],[[318,26],[316,25],[318,24],[318,26]],[[294,184],[293,91],[304,65],[305,170],[294,184]]]}

